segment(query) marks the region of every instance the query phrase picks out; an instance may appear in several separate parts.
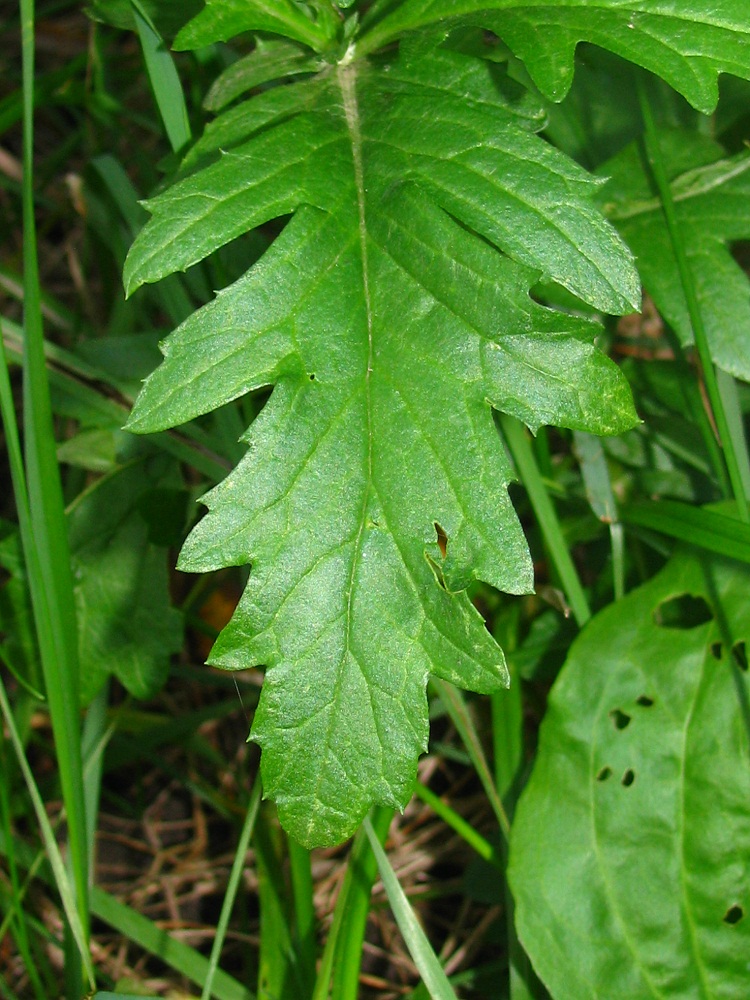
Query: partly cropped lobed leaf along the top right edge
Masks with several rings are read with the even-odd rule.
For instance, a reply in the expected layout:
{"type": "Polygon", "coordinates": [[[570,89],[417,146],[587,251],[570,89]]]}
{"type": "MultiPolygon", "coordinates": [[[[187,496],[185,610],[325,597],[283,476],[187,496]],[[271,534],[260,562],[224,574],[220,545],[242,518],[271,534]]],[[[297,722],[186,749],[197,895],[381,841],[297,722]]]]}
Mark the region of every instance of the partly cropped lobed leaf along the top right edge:
{"type": "Polygon", "coordinates": [[[363,51],[440,24],[490,28],[555,101],[570,88],[581,41],[645,66],[707,113],[718,100],[718,73],[750,77],[746,0],[403,0],[373,20],[363,51]]]}

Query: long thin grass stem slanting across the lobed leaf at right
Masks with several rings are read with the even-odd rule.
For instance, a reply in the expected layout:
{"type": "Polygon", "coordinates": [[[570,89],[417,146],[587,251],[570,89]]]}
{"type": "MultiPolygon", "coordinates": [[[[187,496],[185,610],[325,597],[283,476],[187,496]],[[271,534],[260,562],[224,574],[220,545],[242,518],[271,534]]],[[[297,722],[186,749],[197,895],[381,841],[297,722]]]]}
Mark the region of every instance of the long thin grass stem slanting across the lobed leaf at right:
{"type": "Polygon", "coordinates": [[[740,517],[743,521],[750,521],[750,506],[748,506],[745,484],[743,482],[742,472],[740,471],[740,462],[735,451],[735,440],[733,439],[729,421],[727,420],[724,400],[719,389],[719,382],[716,376],[713,358],[711,357],[711,348],[708,343],[706,327],[703,322],[703,315],[698,303],[695,281],[693,280],[690,263],[687,259],[687,253],[685,252],[685,242],[682,237],[680,222],[677,218],[677,212],[675,210],[669,178],[667,177],[664,158],[661,153],[656,123],[651,111],[651,105],[646,93],[646,87],[640,73],[636,76],[636,85],[638,89],[638,101],[641,107],[641,115],[645,126],[643,141],[646,150],[646,157],[656,183],[659,197],[661,198],[662,210],[664,212],[667,232],[669,234],[669,241],[677,262],[680,283],[682,285],[683,294],[685,295],[688,314],[690,316],[690,322],[693,327],[693,335],[695,337],[695,346],[698,352],[701,370],[703,372],[706,393],[708,395],[713,417],[716,422],[719,441],[724,451],[724,461],[726,462],[729,480],[732,484],[732,493],[735,501],[737,502],[740,517]]]}

